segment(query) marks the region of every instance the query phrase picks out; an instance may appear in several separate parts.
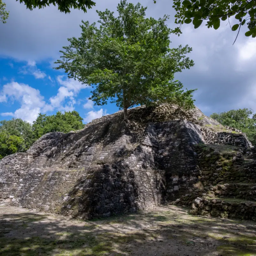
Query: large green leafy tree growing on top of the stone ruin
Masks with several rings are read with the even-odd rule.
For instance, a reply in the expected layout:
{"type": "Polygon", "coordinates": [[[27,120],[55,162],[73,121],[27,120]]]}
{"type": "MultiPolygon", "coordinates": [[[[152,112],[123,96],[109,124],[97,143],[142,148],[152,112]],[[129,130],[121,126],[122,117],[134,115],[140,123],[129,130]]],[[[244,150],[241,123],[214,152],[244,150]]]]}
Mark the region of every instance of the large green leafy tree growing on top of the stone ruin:
{"type": "Polygon", "coordinates": [[[170,49],[169,16],[145,18],[146,9],[124,0],[117,6],[117,17],[108,9],[97,11],[100,26],[82,21],[81,37],[68,38],[70,45],[60,51],[62,60],[55,62],[69,78],[95,88],[90,97],[95,104],[111,99],[123,108],[124,119],[127,108],[136,105],[157,101],[192,107],[194,102],[195,90],[184,92],[180,81],[174,81],[174,73],[194,65],[186,57],[192,49],[170,49]]]}

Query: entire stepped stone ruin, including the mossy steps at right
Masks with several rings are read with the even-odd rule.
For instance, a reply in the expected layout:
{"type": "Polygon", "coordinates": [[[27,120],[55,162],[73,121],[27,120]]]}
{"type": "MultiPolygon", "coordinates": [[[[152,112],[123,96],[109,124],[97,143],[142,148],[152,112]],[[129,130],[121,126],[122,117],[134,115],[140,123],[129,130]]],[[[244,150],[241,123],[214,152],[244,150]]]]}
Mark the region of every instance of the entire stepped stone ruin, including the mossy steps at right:
{"type": "Polygon", "coordinates": [[[197,107],[162,104],[52,132],[0,161],[0,204],[83,219],[158,204],[256,220],[256,150],[197,107]]]}

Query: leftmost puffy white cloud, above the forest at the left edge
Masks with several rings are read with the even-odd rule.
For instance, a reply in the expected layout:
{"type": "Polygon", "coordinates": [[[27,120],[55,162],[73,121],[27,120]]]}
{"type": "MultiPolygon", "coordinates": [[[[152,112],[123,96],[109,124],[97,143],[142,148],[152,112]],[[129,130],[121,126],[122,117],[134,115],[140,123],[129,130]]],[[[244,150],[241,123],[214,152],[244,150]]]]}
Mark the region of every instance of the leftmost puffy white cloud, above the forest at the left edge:
{"type": "Polygon", "coordinates": [[[0,102],[7,101],[7,99],[20,102],[21,106],[14,112],[14,116],[29,123],[36,120],[37,115],[45,105],[44,97],[39,90],[14,81],[5,84],[0,93],[0,102]]]}

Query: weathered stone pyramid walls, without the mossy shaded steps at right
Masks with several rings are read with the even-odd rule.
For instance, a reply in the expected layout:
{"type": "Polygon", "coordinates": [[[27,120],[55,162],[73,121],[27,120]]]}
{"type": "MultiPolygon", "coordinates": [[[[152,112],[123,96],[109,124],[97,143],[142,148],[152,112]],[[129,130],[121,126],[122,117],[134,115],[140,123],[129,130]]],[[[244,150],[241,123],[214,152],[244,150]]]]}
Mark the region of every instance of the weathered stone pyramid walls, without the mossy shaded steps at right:
{"type": "Polygon", "coordinates": [[[80,131],[48,133],[4,157],[0,203],[81,218],[134,212],[195,191],[197,144],[250,148],[243,133],[220,129],[198,108],[138,107],[128,117],[120,111],[80,131]]]}

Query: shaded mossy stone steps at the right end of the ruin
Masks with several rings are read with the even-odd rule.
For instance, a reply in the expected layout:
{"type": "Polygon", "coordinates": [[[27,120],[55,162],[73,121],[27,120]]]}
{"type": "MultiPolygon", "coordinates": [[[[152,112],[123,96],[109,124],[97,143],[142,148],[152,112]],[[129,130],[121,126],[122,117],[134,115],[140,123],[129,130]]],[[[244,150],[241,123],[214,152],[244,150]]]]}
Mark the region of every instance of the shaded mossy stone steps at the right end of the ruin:
{"type": "Polygon", "coordinates": [[[190,213],[256,221],[256,149],[229,145],[197,146],[198,182],[173,204],[190,213]]]}

